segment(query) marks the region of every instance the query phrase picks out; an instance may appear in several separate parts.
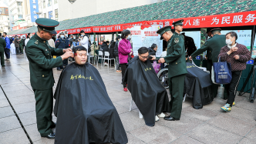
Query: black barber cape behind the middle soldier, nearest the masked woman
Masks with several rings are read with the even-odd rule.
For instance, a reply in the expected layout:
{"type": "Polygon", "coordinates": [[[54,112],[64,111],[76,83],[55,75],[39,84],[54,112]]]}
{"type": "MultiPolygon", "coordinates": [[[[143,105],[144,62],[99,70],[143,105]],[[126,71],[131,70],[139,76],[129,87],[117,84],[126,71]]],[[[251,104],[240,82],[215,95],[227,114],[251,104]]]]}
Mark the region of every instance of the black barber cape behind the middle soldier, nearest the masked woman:
{"type": "Polygon", "coordinates": [[[193,108],[201,109],[214,100],[211,92],[211,76],[187,62],[184,92],[193,97],[193,108]]]}

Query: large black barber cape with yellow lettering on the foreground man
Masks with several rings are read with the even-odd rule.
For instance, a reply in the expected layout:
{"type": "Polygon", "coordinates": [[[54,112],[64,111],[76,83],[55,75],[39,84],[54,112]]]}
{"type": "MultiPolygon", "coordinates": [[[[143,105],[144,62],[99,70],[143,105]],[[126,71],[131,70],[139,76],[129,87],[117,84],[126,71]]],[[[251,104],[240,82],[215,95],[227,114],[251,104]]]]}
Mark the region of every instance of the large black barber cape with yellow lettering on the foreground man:
{"type": "Polygon", "coordinates": [[[67,65],[54,94],[56,144],[128,142],[116,108],[93,65],[67,65]]]}

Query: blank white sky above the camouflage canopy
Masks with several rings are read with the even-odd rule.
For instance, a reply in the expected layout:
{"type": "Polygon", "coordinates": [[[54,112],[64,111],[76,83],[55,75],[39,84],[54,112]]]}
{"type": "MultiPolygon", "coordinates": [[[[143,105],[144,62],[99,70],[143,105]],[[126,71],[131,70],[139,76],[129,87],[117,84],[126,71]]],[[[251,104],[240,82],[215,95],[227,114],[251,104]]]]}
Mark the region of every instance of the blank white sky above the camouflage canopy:
{"type": "Polygon", "coordinates": [[[116,11],[123,8],[132,8],[140,5],[150,5],[163,1],[165,0],[76,0],[76,2],[71,4],[69,0],[58,0],[59,21],[116,11]]]}

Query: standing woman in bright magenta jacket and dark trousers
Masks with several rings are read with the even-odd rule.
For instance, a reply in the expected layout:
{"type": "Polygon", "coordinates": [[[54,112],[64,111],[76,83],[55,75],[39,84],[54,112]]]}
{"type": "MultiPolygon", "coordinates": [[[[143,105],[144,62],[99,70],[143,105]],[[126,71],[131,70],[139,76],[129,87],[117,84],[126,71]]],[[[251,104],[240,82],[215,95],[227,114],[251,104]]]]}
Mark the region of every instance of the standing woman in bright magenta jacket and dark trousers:
{"type": "MultiPolygon", "coordinates": [[[[122,79],[123,75],[126,72],[127,69],[127,63],[128,59],[130,59],[130,56],[133,55],[133,49],[132,45],[130,44],[130,41],[128,39],[131,39],[131,33],[130,30],[125,29],[123,30],[121,34],[121,41],[118,45],[118,55],[119,55],[119,61],[122,69],[122,79]]],[[[123,91],[127,92],[127,85],[126,82],[123,82],[123,91]]]]}

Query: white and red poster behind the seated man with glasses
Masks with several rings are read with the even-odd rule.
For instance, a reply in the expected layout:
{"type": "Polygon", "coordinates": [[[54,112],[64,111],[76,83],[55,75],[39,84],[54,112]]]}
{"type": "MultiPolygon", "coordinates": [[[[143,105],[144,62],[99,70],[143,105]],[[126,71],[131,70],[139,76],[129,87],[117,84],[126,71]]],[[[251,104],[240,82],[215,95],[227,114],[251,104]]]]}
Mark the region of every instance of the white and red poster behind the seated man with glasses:
{"type": "Polygon", "coordinates": [[[157,34],[160,28],[163,28],[163,25],[141,25],[141,45],[149,48],[153,43],[157,44],[157,57],[163,52],[163,40],[160,40],[161,36],[157,34]]]}

